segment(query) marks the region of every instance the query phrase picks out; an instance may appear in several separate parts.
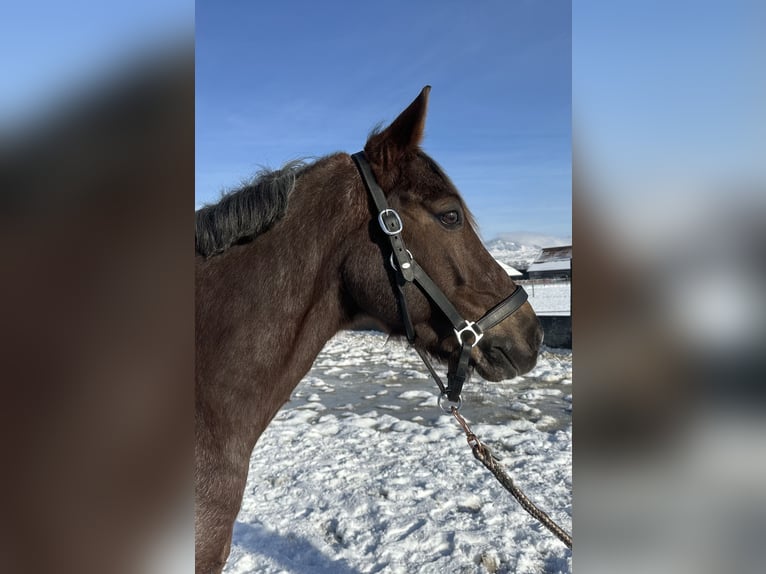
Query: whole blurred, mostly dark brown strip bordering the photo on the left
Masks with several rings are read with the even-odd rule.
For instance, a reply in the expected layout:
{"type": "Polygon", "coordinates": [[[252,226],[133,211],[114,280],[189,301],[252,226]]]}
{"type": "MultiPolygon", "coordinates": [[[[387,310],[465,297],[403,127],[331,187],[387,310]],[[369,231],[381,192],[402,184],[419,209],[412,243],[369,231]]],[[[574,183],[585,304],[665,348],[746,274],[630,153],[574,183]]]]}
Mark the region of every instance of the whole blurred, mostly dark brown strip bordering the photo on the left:
{"type": "Polygon", "coordinates": [[[1,26],[19,70],[0,110],[3,572],[193,570],[193,4],[177,8],[33,2],[1,26]]]}

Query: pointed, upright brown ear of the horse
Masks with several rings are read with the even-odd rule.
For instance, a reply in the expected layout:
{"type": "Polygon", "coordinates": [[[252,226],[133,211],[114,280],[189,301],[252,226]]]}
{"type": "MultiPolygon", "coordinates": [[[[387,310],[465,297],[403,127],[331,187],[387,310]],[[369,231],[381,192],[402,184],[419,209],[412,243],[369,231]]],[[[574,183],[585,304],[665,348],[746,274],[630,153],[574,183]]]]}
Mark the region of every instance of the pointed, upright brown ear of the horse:
{"type": "Polygon", "coordinates": [[[423,139],[426,109],[431,86],[426,86],[417,98],[390,126],[367,140],[364,151],[371,163],[390,167],[406,152],[415,149],[423,139]]]}

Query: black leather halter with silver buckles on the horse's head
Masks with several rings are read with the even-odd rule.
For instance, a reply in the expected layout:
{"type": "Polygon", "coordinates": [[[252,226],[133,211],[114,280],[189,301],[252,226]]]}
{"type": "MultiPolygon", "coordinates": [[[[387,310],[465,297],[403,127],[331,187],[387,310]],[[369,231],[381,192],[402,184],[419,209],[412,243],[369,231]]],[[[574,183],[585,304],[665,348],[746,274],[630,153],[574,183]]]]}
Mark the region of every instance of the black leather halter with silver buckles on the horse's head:
{"type": "Polygon", "coordinates": [[[375,202],[378,210],[378,223],[383,233],[386,234],[391,244],[391,266],[396,272],[396,281],[394,282],[394,292],[399,300],[399,308],[402,314],[404,330],[407,334],[407,340],[423,359],[428,371],[439,385],[442,397],[447,400],[460,403],[460,393],[463,390],[463,384],[469,376],[468,362],[471,358],[471,349],[473,349],[484,336],[484,333],[509,317],[511,313],[521,307],[527,300],[527,292],[518,285],[513,293],[503,299],[500,303],[487,311],[478,321],[468,321],[463,319],[455,306],[447,299],[444,292],[439,289],[431,277],[428,276],[423,268],[415,261],[415,258],[407,250],[402,237],[402,218],[391,209],[386,201],[383,190],[375,180],[370,164],[367,161],[363,151],[357,152],[351,156],[359,169],[367,190],[375,202]],[[404,285],[415,283],[431,301],[433,301],[442,313],[452,323],[455,330],[455,336],[461,344],[460,359],[457,362],[454,372],[450,370],[447,373],[447,386],[444,386],[439,375],[434,370],[428,357],[418,347],[415,347],[415,328],[410,319],[409,309],[407,308],[407,299],[404,296],[404,285]]]}

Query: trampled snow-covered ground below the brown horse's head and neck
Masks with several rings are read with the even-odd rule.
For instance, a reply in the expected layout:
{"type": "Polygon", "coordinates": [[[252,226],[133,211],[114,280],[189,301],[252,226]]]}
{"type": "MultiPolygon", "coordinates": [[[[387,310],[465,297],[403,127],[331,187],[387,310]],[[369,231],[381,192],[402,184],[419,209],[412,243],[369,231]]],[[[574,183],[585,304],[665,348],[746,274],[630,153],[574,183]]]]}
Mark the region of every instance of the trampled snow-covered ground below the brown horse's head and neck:
{"type": "MultiPolygon", "coordinates": [[[[571,531],[572,355],[476,375],[461,413],[571,531]]],[[[253,451],[229,574],[571,572],[571,552],[472,456],[414,351],[373,332],[328,342],[253,451]]]]}

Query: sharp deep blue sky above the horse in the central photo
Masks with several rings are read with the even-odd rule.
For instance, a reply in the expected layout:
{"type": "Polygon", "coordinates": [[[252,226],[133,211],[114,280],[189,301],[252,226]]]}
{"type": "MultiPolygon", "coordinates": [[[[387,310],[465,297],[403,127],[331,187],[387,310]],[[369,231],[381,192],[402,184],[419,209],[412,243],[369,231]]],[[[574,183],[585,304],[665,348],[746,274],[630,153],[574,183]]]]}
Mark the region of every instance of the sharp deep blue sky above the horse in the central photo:
{"type": "Polygon", "coordinates": [[[430,84],[423,147],[483,237],[571,236],[569,2],[200,2],[195,20],[197,206],[361,149],[430,84]]]}

